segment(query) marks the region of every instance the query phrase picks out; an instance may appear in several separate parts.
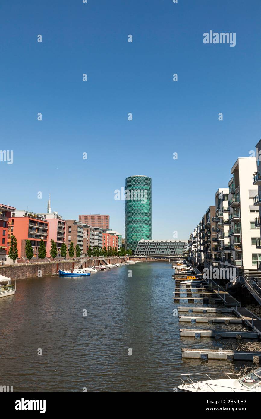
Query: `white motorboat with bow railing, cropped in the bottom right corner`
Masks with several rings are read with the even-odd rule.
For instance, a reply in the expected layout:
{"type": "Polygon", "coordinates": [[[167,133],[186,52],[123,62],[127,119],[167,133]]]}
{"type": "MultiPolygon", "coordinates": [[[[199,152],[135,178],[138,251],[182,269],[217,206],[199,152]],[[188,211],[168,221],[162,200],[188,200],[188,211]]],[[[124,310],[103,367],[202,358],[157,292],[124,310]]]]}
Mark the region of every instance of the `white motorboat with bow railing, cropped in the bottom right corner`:
{"type": "Polygon", "coordinates": [[[179,378],[182,384],[178,388],[191,393],[261,392],[260,367],[243,376],[230,372],[202,372],[199,374],[181,374],[179,378]],[[194,381],[192,375],[203,375],[203,380],[194,381]],[[217,378],[218,375],[220,375],[220,378],[217,378]],[[204,380],[204,378],[208,378],[208,380],[204,380]]]}

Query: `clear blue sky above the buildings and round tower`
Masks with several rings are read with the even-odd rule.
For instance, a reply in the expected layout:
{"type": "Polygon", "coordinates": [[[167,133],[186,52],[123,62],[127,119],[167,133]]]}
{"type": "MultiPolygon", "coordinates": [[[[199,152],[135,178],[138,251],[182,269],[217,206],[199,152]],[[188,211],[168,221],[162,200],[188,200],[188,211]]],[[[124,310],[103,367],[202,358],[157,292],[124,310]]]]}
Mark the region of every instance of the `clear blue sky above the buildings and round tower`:
{"type": "Polygon", "coordinates": [[[153,238],[188,238],[260,139],[260,0],[12,0],[0,16],[1,203],[44,212],[51,193],[65,219],[109,214],[124,235],[114,190],[143,174],[153,238]],[[236,46],[203,44],[210,30],[236,46]]]}

